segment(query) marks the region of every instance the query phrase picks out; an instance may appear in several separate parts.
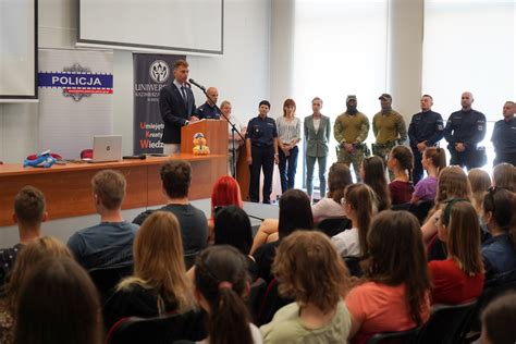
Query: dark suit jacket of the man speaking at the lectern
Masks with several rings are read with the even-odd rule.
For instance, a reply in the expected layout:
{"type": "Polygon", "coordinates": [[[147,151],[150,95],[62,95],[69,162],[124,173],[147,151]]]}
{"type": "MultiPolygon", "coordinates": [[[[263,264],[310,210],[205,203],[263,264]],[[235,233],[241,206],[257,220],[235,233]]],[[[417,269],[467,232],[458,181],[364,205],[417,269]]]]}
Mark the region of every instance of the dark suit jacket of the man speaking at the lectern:
{"type": "Polygon", "coordinates": [[[159,109],[164,123],[163,138],[161,139],[163,144],[181,144],[181,127],[185,125],[196,109],[194,93],[189,87],[186,87],[186,96],[188,98],[187,105],[173,83],[161,88],[159,109]]]}

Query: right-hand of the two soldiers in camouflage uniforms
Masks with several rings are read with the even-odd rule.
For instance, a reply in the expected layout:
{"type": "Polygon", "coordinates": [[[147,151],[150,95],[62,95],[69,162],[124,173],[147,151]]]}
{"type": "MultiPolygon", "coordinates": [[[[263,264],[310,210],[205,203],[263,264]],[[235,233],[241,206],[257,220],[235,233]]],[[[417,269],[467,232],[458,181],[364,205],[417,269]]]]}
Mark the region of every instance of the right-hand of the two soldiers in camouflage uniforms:
{"type": "MultiPolygon", "coordinates": [[[[386,163],[391,149],[396,145],[403,145],[407,139],[407,128],[403,116],[392,109],[391,95],[382,94],[378,99],[382,110],[372,118],[372,132],[377,140],[372,144],[372,153],[386,163]]],[[[389,174],[392,180],[392,172],[389,174]]]]}

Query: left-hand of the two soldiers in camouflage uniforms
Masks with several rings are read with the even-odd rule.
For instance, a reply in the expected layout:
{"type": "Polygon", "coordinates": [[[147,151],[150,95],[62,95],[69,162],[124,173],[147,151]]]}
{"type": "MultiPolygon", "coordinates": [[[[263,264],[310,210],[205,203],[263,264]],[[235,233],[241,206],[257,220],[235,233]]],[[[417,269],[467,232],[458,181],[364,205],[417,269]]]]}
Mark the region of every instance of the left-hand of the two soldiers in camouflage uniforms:
{"type": "Polygon", "coordinates": [[[353,164],[357,182],[360,182],[360,164],[367,151],[364,143],[369,133],[369,120],[357,110],[357,97],[347,96],[346,112],[340,114],[333,125],[333,136],[339,143],[337,161],[353,164]]]}

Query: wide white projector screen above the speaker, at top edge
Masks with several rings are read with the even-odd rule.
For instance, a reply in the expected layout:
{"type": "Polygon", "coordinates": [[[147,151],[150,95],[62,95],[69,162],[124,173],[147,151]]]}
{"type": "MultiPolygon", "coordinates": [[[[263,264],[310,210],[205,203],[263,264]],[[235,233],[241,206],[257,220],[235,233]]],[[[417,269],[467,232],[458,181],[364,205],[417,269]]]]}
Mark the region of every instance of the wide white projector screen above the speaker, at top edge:
{"type": "Polygon", "coordinates": [[[77,46],[222,54],[223,0],[79,0],[77,46]]]}

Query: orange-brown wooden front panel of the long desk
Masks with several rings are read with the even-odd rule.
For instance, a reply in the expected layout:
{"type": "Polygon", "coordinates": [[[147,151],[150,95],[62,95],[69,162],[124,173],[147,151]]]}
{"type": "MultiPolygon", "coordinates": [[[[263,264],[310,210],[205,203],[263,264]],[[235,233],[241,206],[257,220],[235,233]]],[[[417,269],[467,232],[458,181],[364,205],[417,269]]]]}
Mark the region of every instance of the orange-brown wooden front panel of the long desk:
{"type": "Polygon", "coordinates": [[[0,164],[0,226],[13,224],[14,197],[25,185],[33,185],[44,192],[49,219],[95,213],[90,180],[95,173],[105,169],[118,170],[125,175],[127,188],[123,209],[162,205],[165,198],[161,192],[159,171],[169,159],[183,159],[192,164],[191,199],[210,197],[217,179],[226,174],[226,155],[179,153],[172,158],[54,164],[50,169],[0,164]]]}

